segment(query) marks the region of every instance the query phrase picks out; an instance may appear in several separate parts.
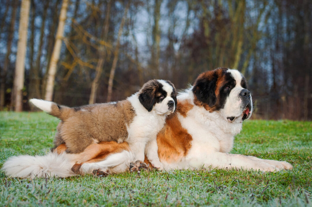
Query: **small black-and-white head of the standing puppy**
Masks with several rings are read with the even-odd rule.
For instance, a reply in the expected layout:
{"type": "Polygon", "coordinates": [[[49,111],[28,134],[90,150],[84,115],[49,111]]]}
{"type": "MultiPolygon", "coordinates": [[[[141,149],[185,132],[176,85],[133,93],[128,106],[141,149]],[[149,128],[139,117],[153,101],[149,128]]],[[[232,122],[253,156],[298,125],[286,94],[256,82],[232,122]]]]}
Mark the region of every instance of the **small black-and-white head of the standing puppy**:
{"type": "Polygon", "coordinates": [[[177,94],[170,81],[150,80],[139,91],[139,101],[147,111],[171,114],[177,108],[177,94]]]}

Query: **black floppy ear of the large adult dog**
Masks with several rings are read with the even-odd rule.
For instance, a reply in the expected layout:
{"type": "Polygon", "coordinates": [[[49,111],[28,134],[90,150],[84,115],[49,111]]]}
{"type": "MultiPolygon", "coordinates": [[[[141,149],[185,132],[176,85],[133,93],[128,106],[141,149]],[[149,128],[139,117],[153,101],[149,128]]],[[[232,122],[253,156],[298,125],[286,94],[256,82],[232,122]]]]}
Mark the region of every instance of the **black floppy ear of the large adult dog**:
{"type": "Polygon", "coordinates": [[[215,91],[217,87],[217,80],[218,76],[216,73],[210,73],[208,76],[206,74],[198,76],[193,86],[193,93],[197,97],[198,101],[208,104],[209,107],[216,104],[217,97],[215,91]]]}

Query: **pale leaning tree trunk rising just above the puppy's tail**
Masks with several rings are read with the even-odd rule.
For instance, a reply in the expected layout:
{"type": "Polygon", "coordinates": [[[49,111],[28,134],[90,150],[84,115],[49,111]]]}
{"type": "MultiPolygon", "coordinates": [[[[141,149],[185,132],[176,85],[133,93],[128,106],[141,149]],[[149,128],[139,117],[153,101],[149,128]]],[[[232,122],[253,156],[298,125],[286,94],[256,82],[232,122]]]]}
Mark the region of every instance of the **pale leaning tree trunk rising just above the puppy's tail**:
{"type": "Polygon", "coordinates": [[[46,94],[45,94],[45,100],[47,101],[52,101],[53,87],[54,87],[55,73],[56,73],[56,64],[60,58],[60,53],[61,53],[61,45],[62,45],[62,38],[64,34],[67,6],[68,6],[68,0],[63,0],[59,24],[58,24],[57,32],[56,32],[56,41],[53,47],[51,62],[50,62],[49,69],[48,69],[46,94]]]}

